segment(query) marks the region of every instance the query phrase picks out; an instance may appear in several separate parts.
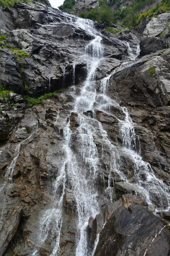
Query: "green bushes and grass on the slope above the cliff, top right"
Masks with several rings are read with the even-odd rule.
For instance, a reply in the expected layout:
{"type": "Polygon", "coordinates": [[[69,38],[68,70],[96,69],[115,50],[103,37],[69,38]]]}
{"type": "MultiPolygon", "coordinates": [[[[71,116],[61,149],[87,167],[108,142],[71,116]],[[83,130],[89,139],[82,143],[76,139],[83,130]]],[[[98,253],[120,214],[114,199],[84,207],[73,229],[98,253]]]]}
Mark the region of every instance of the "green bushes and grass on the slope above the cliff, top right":
{"type": "Polygon", "coordinates": [[[108,3],[107,0],[100,0],[99,6],[89,11],[80,12],[79,17],[105,22],[108,25],[106,29],[115,33],[116,31],[109,24],[119,23],[127,28],[135,27],[146,16],[155,16],[159,13],[159,10],[161,12],[170,10],[170,0],[161,0],[157,4],[156,2],[156,0],[133,0],[133,7],[119,11],[121,5],[119,0],[112,0],[111,3],[108,3]]]}

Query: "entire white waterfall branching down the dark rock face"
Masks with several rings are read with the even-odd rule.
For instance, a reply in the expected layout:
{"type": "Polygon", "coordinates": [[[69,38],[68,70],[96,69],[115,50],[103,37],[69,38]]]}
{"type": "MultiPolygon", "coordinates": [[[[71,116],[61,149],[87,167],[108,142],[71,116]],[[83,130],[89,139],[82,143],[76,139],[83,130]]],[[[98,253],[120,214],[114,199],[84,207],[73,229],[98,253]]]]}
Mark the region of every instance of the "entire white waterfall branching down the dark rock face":
{"type": "MultiPolygon", "coordinates": [[[[99,175],[100,159],[95,143],[95,137],[102,144],[102,154],[105,154],[106,159],[110,163],[108,170],[108,187],[106,194],[109,195],[112,201],[113,194],[113,173],[119,174],[122,181],[133,186],[140,195],[144,196],[148,204],[154,202],[155,197],[161,199],[160,207],[169,207],[169,190],[163,181],[158,180],[154,175],[150,165],[145,163],[137,154],[136,151],[136,134],[133,127],[133,122],[128,115],[126,108],[121,108],[119,104],[114,102],[107,96],[109,81],[113,79],[113,73],[102,79],[99,92],[95,79],[95,70],[99,66],[99,62],[104,55],[104,49],[101,44],[102,37],[94,28],[94,23],[91,20],[81,19],[69,14],[65,14],[65,23],[71,23],[75,27],[88,31],[91,36],[91,42],[85,47],[85,55],[82,56],[83,61],[87,63],[87,78],[80,88],[80,93],[76,96],[74,102],[74,113],[77,115],[77,129],[70,129],[70,121],[63,130],[63,155],[64,161],[60,168],[58,177],[55,180],[53,187],[53,197],[51,200],[51,208],[45,211],[43,218],[40,221],[40,234],[38,236],[38,246],[47,239],[51,234],[53,237],[51,256],[59,256],[59,240],[60,231],[62,228],[62,202],[65,194],[67,183],[71,186],[77,205],[77,243],[76,256],[93,256],[99,236],[94,243],[94,248],[89,248],[88,245],[88,220],[95,216],[100,211],[98,202],[98,190],[96,180],[99,175]],[[125,114],[125,119],[119,120],[120,131],[122,135],[123,151],[129,155],[134,163],[134,180],[130,183],[127,177],[121,172],[119,166],[119,153],[115,145],[111,143],[107,132],[103,129],[101,122],[95,117],[95,109],[111,113],[111,107],[120,108],[125,114]],[[91,116],[85,115],[85,112],[91,112],[91,116]],[[97,134],[99,132],[99,134],[97,134]],[[76,140],[76,148],[74,148],[74,140],[76,140]],[[144,178],[143,178],[144,177],[144,178]],[[154,191],[153,191],[154,190],[154,191]],[[165,202],[166,201],[166,202],[165,202]]],[[[129,48],[130,60],[134,60],[139,54],[139,47],[136,49],[136,54],[132,53],[129,48]]],[[[65,69],[63,74],[63,82],[65,80],[65,69]]],[[[73,64],[73,79],[75,83],[75,64],[73,64]]],[[[59,114],[55,125],[59,120],[59,114]]],[[[37,247],[38,247],[37,246],[37,247]]],[[[39,250],[36,248],[32,255],[39,255],[39,250]]]]}

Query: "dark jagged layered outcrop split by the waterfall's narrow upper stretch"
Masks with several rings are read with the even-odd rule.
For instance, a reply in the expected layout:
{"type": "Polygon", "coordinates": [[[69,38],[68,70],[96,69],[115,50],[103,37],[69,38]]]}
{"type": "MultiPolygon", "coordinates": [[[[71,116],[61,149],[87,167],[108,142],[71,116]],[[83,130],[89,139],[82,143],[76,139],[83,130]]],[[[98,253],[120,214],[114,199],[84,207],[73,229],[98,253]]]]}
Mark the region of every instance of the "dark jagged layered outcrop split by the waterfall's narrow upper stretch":
{"type": "MultiPolygon", "coordinates": [[[[40,3],[16,3],[14,7],[10,12],[10,21],[14,25],[10,29],[4,27],[8,34],[7,42],[2,41],[4,47],[0,49],[0,82],[16,93],[39,96],[70,85],[74,71],[75,82],[83,81],[86,64],[81,62],[79,56],[91,40],[90,32],[82,30],[77,23],[76,26],[74,23],[64,23],[71,20],[69,15],[65,16],[40,3]],[[15,48],[25,53],[13,53],[15,48]]],[[[2,10],[0,15],[3,19],[5,14],[2,10]]],[[[127,49],[124,41],[110,35],[107,33],[103,37],[105,56],[113,60],[109,61],[113,65],[108,72],[115,67],[115,58],[122,59],[127,49]]],[[[106,60],[104,63],[110,65],[106,60]]],[[[105,70],[97,70],[100,73],[98,79],[105,76],[105,70]]]]}

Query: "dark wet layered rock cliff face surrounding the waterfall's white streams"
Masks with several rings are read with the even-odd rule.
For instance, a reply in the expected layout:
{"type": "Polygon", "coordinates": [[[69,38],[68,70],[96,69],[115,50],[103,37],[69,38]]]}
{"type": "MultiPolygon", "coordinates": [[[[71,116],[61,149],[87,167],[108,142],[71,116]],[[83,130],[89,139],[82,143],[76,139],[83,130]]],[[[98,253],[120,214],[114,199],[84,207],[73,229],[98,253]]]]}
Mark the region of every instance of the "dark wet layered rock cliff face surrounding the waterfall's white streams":
{"type": "MultiPolygon", "coordinates": [[[[3,250],[6,249],[3,256],[31,256],[37,249],[40,220],[45,210],[51,206],[54,180],[57,179],[61,163],[65,159],[63,133],[68,121],[72,132],[71,150],[77,156],[80,168],[84,168],[81,163],[82,145],[79,142],[79,121],[78,114],[74,112],[74,101],[75,95],[81,92],[87,74],[87,65],[82,61],[81,55],[92,37],[89,31],[74,26],[66,13],[41,3],[16,3],[11,11],[0,9],[0,17],[6,21],[2,25],[0,23],[0,33],[6,34],[9,46],[20,48],[28,54],[28,57],[23,57],[9,50],[9,47],[0,49],[0,82],[13,91],[9,94],[10,100],[0,98],[0,187],[6,185],[4,192],[0,193],[0,234],[5,237],[2,227],[7,224],[8,230],[13,230],[3,247],[3,250]],[[23,94],[37,97],[59,88],[63,88],[62,91],[42,100],[38,105],[29,105],[24,100],[23,94]],[[20,150],[17,161],[11,172],[11,179],[6,183],[6,173],[16,157],[18,145],[20,150]],[[18,206],[23,208],[19,225],[10,221],[13,218],[11,213],[18,206]]],[[[154,19],[158,18],[159,16],[154,19]]],[[[145,252],[146,256],[166,256],[170,250],[169,227],[164,227],[167,224],[162,222],[162,218],[169,220],[169,212],[159,212],[161,218],[150,213],[160,206],[160,202],[156,198],[155,205],[147,205],[139,187],[131,184],[135,183],[134,163],[123,150],[120,134],[120,123],[125,119],[121,107],[125,106],[133,120],[136,150],[140,150],[142,159],[151,165],[156,177],[169,186],[170,49],[164,49],[169,47],[169,43],[159,51],[157,46],[153,47],[151,39],[156,38],[157,42],[158,38],[154,34],[157,21],[153,20],[151,26],[151,20],[146,20],[139,32],[123,29],[118,35],[107,32],[103,24],[95,24],[102,34],[105,52],[95,71],[97,91],[100,80],[111,74],[108,95],[115,101],[109,113],[108,110],[104,112],[99,109],[98,104],[99,97],[102,96],[97,93],[94,111],[82,113],[82,117],[89,117],[89,122],[95,127],[92,137],[99,157],[96,188],[101,207],[99,214],[88,220],[87,228],[90,246],[94,244],[97,233],[100,233],[96,256],[123,256],[126,253],[130,256],[144,256],[145,252]],[[145,26],[150,30],[150,48],[147,48],[145,26]],[[145,55],[147,53],[144,52],[141,53],[143,57],[131,61],[127,42],[133,51],[136,50],[143,31],[142,52],[150,49],[150,55],[145,55]],[[154,72],[150,72],[150,67],[154,72]],[[111,144],[108,144],[106,138],[103,139],[99,122],[107,131],[107,140],[111,144]],[[114,147],[119,155],[122,175],[128,178],[129,183],[125,182],[118,170],[111,168],[110,159],[114,157],[114,147]],[[110,189],[109,175],[112,176],[110,189]]],[[[166,33],[161,36],[161,41],[165,35],[169,37],[167,30],[164,31],[166,33]]],[[[103,101],[105,104],[104,98],[103,101]]],[[[70,180],[65,184],[62,212],[60,253],[62,256],[75,256],[78,217],[77,202],[70,180]]],[[[17,217],[15,223],[20,218],[17,217]]],[[[52,242],[50,234],[40,244],[41,256],[51,254],[52,242]]]]}

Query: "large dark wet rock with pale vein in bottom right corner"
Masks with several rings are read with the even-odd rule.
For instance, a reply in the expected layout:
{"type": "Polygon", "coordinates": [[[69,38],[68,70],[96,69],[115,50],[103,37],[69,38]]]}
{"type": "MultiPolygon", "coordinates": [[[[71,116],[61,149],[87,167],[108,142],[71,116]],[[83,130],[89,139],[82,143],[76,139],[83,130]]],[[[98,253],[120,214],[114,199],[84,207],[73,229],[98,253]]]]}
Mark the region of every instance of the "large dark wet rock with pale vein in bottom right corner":
{"type": "Polygon", "coordinates": [[[94,255],[168,256],[169,234],[168,224],[142,205],[119,207],[101,231],[94,255]]]}

